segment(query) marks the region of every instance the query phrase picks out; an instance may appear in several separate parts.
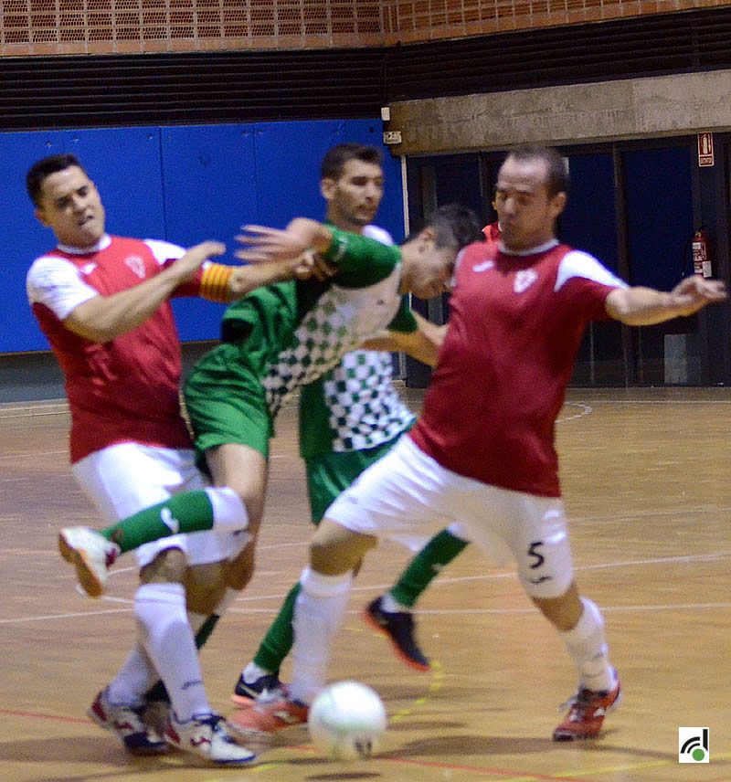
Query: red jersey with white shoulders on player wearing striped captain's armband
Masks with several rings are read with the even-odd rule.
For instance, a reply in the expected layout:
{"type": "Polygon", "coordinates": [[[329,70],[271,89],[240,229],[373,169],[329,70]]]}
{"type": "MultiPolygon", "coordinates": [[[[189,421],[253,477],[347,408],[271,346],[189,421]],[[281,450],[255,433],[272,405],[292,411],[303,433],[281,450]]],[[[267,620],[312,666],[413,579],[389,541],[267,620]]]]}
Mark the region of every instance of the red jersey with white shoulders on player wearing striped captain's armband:
{"type": "MultiPolygon", "coordinates": [[[[191,448],[178,396],[180,341],[167,301],[108,343],[92,343],[63,325],[83,301],[139,285],[184,252],[168,242],[105,236],[83,254],[56,248],[28,270],[28,300],[64,374],[71,462],[118,442],[191,448]]],[[[175,294],[195,294],[199,279],[200,273],[175,294]]]]}

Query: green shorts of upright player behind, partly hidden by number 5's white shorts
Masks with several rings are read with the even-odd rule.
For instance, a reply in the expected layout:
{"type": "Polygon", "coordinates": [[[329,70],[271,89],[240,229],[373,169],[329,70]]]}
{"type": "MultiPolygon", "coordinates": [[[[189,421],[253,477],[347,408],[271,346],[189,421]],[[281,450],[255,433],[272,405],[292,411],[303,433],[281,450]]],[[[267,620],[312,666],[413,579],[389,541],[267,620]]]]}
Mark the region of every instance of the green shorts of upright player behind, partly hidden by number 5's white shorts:
{"type": "Polygon", "coordinates": [[[325,511],[334,499],[374,461],[386,456],[401,435],[387,440],[375,448],[326,453],[305,460],[307,493],[310,497],[310,513],[313,524],[323,520],[325,511]]]}

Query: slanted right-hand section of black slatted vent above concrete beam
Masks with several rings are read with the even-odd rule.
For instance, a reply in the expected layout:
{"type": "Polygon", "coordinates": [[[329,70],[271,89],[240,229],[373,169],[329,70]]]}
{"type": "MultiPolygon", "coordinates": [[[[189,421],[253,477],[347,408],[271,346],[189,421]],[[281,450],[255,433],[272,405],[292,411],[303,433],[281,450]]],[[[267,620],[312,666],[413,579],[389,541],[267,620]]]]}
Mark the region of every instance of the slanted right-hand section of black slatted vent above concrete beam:
{"type": "Polygon", "coordinates": [[[731,8],[462,38],[395,49],[390,100],[731,67],[731,8]]]}

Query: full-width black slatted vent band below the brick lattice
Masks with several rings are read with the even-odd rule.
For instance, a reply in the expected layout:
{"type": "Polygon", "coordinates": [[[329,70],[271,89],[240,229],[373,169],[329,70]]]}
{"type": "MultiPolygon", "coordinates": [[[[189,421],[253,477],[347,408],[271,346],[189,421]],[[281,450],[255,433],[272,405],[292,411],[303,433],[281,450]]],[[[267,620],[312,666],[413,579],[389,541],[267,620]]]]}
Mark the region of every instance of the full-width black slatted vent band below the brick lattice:
{"type": "Polygon", "coordinates": [[[731,7],[392,48],[0,58],[0,130],[375,117],[387,102],[731,68],[731,7]]]}

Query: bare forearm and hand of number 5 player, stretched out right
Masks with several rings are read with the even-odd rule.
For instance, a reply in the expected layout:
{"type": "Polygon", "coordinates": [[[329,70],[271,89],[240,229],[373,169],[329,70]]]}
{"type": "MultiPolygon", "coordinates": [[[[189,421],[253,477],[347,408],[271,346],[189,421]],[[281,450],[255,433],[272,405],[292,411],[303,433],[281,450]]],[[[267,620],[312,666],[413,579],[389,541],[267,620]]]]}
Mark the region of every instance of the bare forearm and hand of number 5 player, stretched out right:
{"type": "Polygon", "coordinates": [[[694,275],[681,280],[670,292],[653,288],[624,288],[611,291],[605,307],[609,317],[628,326],[649,326],[672,318],[693,315],[707,304],[726,301],[721,280],[704,280],[694,275]]]}

